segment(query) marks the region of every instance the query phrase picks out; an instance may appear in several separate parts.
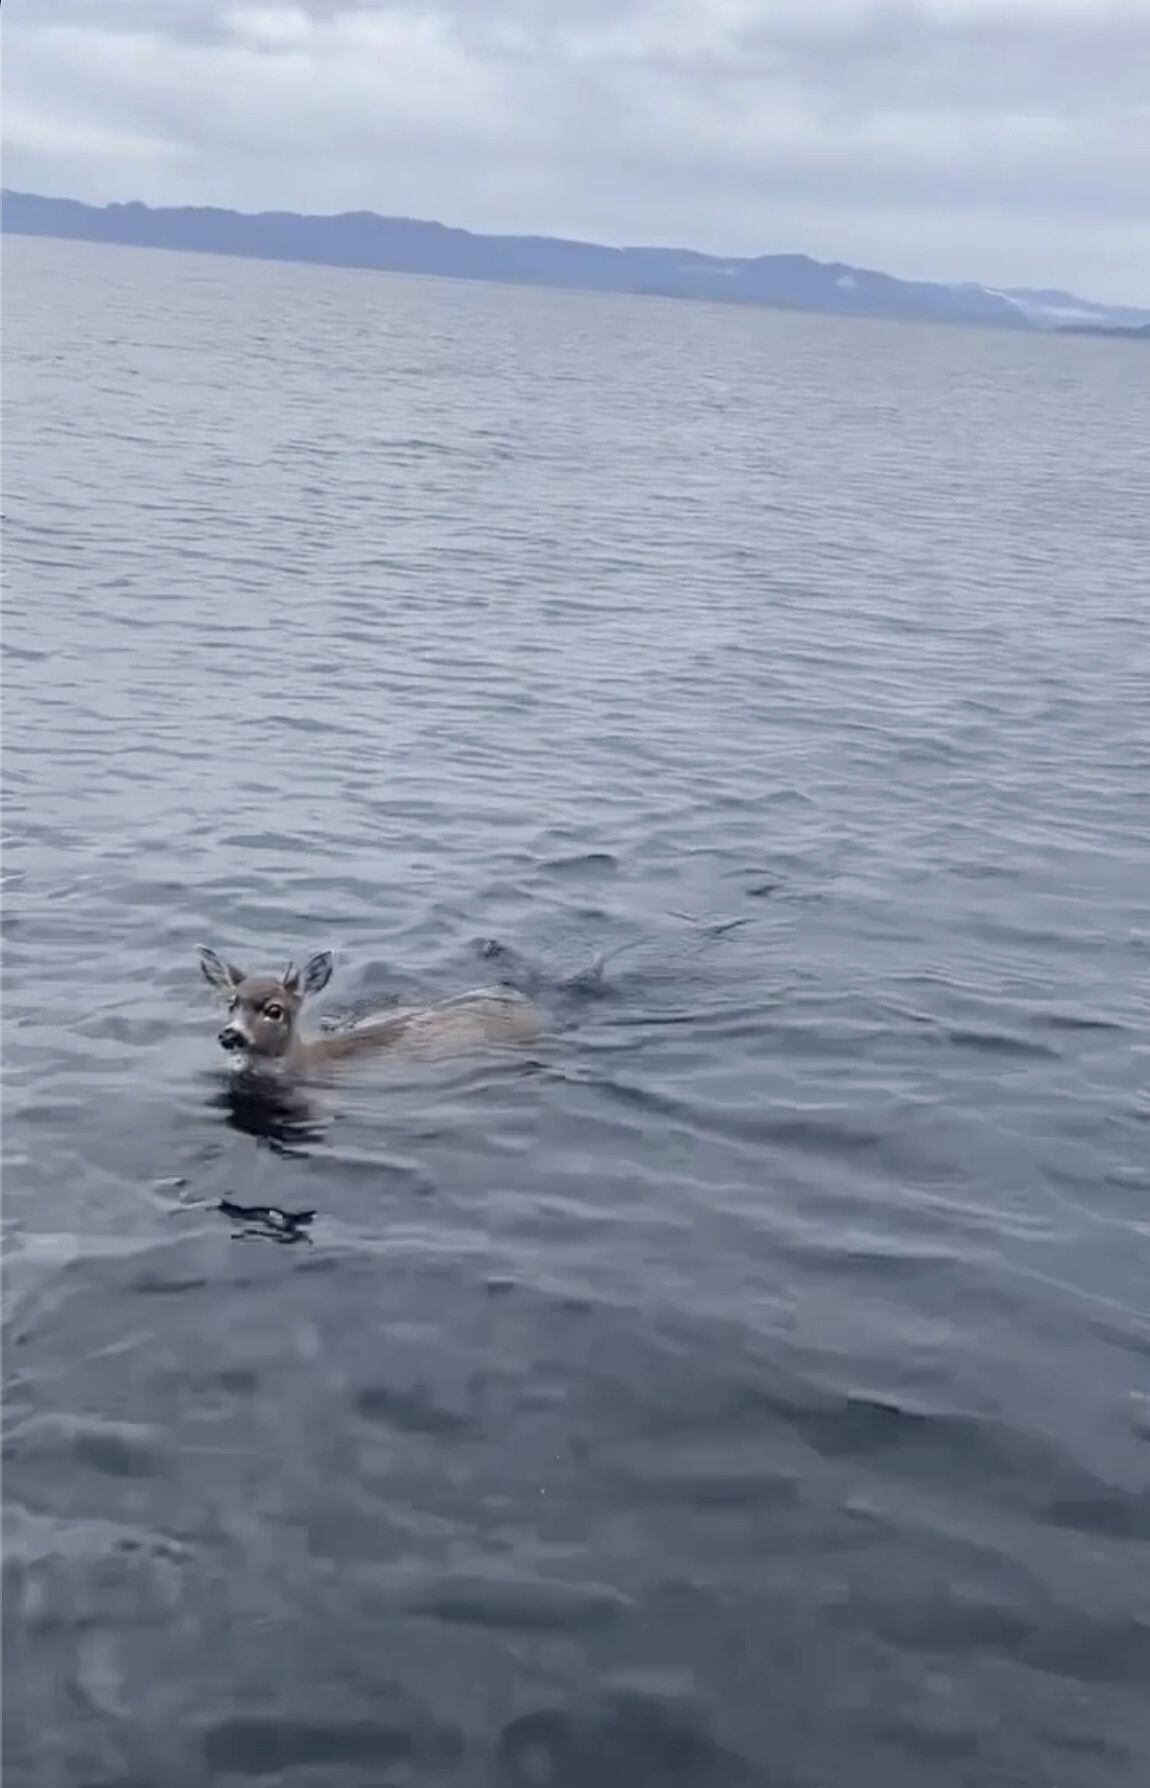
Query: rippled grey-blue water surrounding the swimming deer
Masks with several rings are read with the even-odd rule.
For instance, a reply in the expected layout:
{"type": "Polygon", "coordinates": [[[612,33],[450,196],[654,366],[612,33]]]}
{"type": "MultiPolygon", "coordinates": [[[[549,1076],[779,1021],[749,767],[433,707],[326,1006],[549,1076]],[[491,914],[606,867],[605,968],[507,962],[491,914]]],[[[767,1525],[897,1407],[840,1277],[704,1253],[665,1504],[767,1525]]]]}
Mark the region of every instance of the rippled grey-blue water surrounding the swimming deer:
{"type": "Polygon", "coordinates": [[[1145,1781],[1137,347],[5,281],[11,1788],[1145,1781]]]}

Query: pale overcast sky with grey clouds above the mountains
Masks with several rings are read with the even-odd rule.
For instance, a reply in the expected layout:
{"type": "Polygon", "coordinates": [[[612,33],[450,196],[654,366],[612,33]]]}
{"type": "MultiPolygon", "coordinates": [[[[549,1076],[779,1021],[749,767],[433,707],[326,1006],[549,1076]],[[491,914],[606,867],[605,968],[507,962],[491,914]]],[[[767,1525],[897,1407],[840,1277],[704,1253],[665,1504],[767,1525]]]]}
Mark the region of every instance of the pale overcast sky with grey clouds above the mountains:
{"type": "Polygon", "coordinates": [[[4,182],[1150,306],[1150,0],[7,0],[4,182]]]}

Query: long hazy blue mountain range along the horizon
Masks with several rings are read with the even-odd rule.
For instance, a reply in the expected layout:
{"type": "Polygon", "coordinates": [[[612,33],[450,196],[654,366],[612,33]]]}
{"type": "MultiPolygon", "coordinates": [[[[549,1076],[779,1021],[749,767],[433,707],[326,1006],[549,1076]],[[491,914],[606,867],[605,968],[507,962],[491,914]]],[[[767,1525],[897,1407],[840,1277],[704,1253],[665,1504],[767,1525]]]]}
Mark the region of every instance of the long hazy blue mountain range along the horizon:
{"type": "MultiPolygon", "coordinates": [[[[86,206],[34,193],[2,195],[4,229],[25,236],[188,249],[263,261],[309,261],[376,268],[390,274],[438,274],[506,284],[562,286],[583,291],[646,293],[762,304],[833,316],[887,316],[923,322],[1043,327],[1039,295],[993,291],[977,284],[894,279],[805,254],[721,259],[690,249],[606,249],[554,236],[476,236],[444,224],[383,218],[372,211],[300,216],[293,211],[207,207],[152,209],[143,204],[86,206]]],[[[1111,318],[1107,306],[1073,299],[1075,316],[1111,318]]],[[[1150,318],[1150,311],[1145,313],[1150,318]]],[[[1139,313],[1141,316],[1141,313],[1139,313]]],[[[1059,316],[1059,320],[1062,320],[1059,316]]],[[[1114,315],[1127,322],[1127,313],[1114,315]]],[[[1050,322],[1055,322],[1052,316],[1050,322]]]]}

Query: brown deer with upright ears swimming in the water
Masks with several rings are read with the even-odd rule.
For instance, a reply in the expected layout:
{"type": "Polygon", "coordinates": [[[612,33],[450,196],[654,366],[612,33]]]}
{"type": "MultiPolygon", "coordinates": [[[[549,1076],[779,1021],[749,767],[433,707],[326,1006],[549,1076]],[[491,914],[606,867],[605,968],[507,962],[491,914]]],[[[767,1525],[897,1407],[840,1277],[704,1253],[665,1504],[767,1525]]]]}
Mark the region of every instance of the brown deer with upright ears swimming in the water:
{"type": "Polygon", "coordinates": [[[333,966],[331,949],[322,949],[302,969],[288,964],[283,974],[245,974],[200,946],[204,980],[227,999],[220,1046],[236,1057],[238,1067],[308,1075],[372,1051],[456,1055],[481,1044],[531,1042],[538,1033],[535,1008],[522,994],[485,987],[435,1005],[401,1007],[354,1030],[304,1039],[299,1035],[300,1007],[308,994],[327,987],[333,966]]]}

